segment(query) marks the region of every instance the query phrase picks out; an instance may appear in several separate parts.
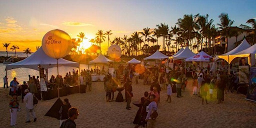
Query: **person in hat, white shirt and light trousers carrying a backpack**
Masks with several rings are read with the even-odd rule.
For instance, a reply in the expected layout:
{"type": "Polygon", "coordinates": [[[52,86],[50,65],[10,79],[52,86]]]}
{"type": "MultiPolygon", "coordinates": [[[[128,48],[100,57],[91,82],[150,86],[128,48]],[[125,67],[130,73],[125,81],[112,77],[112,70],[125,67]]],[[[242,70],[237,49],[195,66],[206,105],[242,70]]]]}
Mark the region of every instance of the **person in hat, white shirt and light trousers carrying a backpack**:
{"type": "Polygon", "coordinates": [[[35,117],[35,112],[34,112],[34,105],[33,105],[33,94],[29,92],[28,89],[25,89],[24,91],[25,96],[24,96],[24,103],[26,107],[26,121],[25,122],[30,122],[30,114],[32,115],[34,121],[36,121],[35,117]]]}

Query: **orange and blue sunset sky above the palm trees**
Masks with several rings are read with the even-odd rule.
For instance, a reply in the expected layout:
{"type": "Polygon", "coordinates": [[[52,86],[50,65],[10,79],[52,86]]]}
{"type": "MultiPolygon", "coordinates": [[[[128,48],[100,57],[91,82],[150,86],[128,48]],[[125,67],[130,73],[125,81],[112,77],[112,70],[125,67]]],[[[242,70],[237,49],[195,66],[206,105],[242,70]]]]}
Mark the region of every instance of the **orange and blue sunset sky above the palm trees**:
{"type": "MultiPolygon", "coordinates": [[[[88,39],[98,30],[112,30],[114,37],[130,36],[143,28],[165,23],[174,26],[184,14],[209,14],[214,24],[228,13],[233,26],[256,17],[256,0],[0,0],[0,51],[2,43],[35,51],[43,35],[52,29],[66,31],[71,38],[84,32],[88,39]]],[[[217,25],[216,25],[217,26],[217,25]]],[[[102,50],[107,49],[106,41],[102,50]]]]}

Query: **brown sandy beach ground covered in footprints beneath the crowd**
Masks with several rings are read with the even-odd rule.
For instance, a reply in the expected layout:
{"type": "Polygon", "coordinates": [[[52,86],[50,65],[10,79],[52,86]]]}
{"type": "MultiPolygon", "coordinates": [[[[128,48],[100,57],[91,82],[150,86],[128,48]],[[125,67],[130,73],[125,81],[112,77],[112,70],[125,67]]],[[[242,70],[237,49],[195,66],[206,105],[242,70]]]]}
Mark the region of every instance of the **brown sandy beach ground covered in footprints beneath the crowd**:
{"type": "MultiPolygon", "coordinates": [[[[133,97],[131,102],[139,100],[150,85],[132,83],[133,97]]],[[[10,96],[5,97],[6,90],[0,88],[0,127],[10,127],[8,103],[10,96]]],[[[117,95],[117,91],[114,93],[117,95]]],[[[122,91],[124,96],[124,90],[122,91]]],[[[183,97],[177,98],[176,93],[171,95],[171,103],[166,100],[166,90],[160,93],[158,117],[155,127],[256,127],[256,102],[245,100],[245,95],[227,92],[224,101],[217,104],[216,100],[208,104],[201,104],[201,98],[192,95],[191,80],[183,97]]],[[[103,82],[92,82],[92,91],[75,93],[60,97],[68,98],[72,106],[79,110],[75,120],[76,127],[134,127],[132,123],[137,106],[131,103],[131,109],[125,109],[126,102],[106,102],[103,82]]],[[[25,123],[25,106],[21,103],[22,111],[18,112],[15,127],[59,127],[59,120],[44,116],[57,98],[39,101],[35,107],[36,122],[25,123]]]]}

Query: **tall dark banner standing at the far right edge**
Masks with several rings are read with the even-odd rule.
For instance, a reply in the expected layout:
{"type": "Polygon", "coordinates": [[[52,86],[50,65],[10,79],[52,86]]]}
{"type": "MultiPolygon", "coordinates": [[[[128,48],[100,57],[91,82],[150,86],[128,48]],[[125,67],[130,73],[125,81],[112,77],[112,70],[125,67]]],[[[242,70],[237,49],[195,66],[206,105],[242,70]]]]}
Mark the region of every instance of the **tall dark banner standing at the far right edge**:
{"type": "Polygon", "coordinates": [[[247,100],[256,102],[256,67],[250,67],[249,86],[247,89],[247,100]]]}

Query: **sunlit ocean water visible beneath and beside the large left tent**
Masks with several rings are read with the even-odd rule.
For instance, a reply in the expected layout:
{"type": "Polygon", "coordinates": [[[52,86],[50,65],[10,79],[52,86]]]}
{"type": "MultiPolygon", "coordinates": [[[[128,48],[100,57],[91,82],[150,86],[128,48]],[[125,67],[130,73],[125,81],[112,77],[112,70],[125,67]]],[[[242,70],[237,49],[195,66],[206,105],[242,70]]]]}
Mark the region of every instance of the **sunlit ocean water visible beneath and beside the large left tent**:
{"type": "MultiPolygon", "coordinates": [[[[9,56],[9,55],[8,55],[9,56]]],[[[95,68],[95,65],[88,65],[87,64],[80,64],[80,70],[81,69],[90,69],[90,68],[95,68]]],[[[72,72],[72,69],[79,70],[79,68],[76,67],[70,67],[70,66],[60,66],[58,67],[58,74],[65,76],[66,72],[70,71],[72,72]]],[[[45,73],[45,71],[44,71],[45,73]]],[[[3,87],[3,77],[5,76],[5,64],[0,63],[0,87],[3,87]]],[[[13,79],[13,77],[17,78],[17,81],[19,84],[22,84],[23,81],[28,81],[28,75],[31,76],[39,76],[39,71],[34,70],[34,69],[29,69],[29,68],[15,68],[15,69],[10,69],[7,70],[7,78],[8,78],[8,86],[10,81],[13,79]]],[[[57,67],[52,67],[48,69],[48,79],[50,78],[51,75],[56,76],[57,75],[57,67]]]]}

